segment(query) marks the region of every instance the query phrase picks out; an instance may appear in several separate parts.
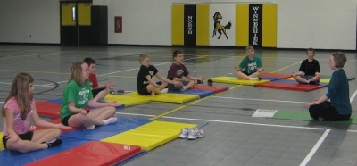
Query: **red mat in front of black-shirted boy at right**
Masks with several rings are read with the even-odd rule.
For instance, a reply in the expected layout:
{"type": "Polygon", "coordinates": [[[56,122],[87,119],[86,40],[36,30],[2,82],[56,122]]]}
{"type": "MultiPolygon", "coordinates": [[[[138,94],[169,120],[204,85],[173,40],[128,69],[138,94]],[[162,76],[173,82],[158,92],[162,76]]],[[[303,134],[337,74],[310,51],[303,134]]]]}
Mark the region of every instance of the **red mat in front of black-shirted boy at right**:
{"type": "Polygon", "coordinates": [[[328,87],[328,84],[320,84],[320,85],[309,85],[309,84],[299,84],[299,83],[286,83],[286,82],[265,82],[262,84],[257,84],[255,87],[270,87],[270,88],[278,88],[278,89],[286,89],[286,90],[296,90],[296,91],[304,91],[309,92],[311,90],[316,90],[322,87],[328,87]]]}

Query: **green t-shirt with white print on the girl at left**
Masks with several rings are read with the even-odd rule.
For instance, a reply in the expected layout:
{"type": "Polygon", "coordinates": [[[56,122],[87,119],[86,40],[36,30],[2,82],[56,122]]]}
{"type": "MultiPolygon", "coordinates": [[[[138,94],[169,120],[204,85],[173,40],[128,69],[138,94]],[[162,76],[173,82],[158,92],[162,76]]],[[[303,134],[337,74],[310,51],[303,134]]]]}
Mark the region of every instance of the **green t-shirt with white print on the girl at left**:
{"type": "Polygon", "coordinates": [[[87,103],[93,98],[89,81],[86,80],[83,86],[79,86],[75,80],[71,80],[67,87],[63,90],[62,105],[61,105],[61,119],[73,114],[70,112],[68,104],[73,101],[76,108],[86,108],[87,103]]]}

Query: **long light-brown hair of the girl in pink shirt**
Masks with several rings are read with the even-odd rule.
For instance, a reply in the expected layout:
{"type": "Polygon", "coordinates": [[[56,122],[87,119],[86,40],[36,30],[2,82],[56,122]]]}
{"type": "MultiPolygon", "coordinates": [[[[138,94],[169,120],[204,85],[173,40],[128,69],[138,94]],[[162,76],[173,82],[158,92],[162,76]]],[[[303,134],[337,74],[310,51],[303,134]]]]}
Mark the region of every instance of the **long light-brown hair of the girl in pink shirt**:
{"type": "MultiPolygon", "coordinates": [[[[25,72],[18,73],[16,77],[12,80],[12,87],[9,95],[7,96],[5,103],[8,102],[12,97],[15,98],[16,102],[19,104],[19,109],[21,112],[21,120],[26,119],[26,115],[31,111],[31,101],[33,100],[33,95],[29,93],[29,84],[33,83],[34,79],[31,75],[25,72]]],[[[3,116],[5,117],[4,105],[3,105],[3,116]]]]}

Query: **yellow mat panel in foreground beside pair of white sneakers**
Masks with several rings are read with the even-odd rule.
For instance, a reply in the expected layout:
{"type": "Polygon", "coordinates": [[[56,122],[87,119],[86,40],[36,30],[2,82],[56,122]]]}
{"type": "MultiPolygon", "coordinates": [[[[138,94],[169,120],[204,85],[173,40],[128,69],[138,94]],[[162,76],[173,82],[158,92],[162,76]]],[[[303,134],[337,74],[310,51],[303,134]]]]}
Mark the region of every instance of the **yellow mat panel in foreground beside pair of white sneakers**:
{"type": "Polygon", "coordinates": [[[152,121],[136,129],[130,129],[118,135],[107,137],[101,141],[126,145],[139,145],[142,150],[149,151],[159,145],[178,138],[180,129],[195,127],[194,124],[168,121],[152,121]]]}

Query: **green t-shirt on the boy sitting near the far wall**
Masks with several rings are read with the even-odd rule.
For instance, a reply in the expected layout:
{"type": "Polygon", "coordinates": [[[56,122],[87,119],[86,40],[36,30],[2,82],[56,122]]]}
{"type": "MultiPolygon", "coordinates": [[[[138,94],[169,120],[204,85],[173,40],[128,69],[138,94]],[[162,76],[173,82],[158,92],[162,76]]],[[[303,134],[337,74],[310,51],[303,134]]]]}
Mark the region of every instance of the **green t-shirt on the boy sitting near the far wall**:
{"type": "Polygon", "coordinates": [[[253,56],[253,60],[249,59],[249,56],[245,56],[240,62],[239,68],[246,73],[253,74],[258,68],[262,68],[262,60],[257,55],[253,56]]]}

